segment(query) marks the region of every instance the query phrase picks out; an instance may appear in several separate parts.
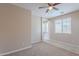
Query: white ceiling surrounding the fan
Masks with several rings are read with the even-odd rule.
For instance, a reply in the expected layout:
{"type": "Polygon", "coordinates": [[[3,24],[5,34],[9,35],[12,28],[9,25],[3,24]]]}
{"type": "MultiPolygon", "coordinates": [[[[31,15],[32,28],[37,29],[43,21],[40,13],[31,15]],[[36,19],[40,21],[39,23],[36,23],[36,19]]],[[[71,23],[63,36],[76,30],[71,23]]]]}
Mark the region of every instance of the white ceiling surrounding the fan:
{"type": "Polygon", "coordinates": [[[62,12],[64,12],[64,14],[67,14],[79,10],[79,3],[62,3],[56,6],[57,8],[59,8],[58,11],[53,10],[49,13],[45,13],[46,9],[38,9],[38,7],[40,6],[47,6],[46,3],[16,3],[14,5],[29,9],[32,11],[33,15],[45,18],[62,15],[62,12]]]}

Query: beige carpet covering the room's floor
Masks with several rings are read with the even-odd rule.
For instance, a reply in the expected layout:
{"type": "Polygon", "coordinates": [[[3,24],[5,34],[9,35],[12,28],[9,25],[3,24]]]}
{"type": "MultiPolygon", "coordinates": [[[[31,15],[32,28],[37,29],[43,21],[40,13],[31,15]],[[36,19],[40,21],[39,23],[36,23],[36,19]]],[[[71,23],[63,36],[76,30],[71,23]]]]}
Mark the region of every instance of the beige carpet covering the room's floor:
{"type": "Polygon", "coordinates": [[[78,54],[40,42],[34,44],[32,48],[6,56],[78,56],[78,54]]]}

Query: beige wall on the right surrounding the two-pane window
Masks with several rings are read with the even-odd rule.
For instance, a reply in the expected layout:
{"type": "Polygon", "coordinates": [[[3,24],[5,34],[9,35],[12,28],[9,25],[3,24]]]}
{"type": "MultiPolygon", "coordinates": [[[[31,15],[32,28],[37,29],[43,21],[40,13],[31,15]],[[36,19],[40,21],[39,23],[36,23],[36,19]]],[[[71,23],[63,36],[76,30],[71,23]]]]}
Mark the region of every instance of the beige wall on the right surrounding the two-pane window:
{"type": "Polygon", "coordinates": [[[73,12],[71,14],[58,16],[50,19],[50,40],[53,42],[61,41],[64,43],[69,43],[73,45],[79,45],[79,11],[73,12]],[[65,17],[71,17],[71,34],[56,34],[55,33],[55,24],[56,19],[62,19],[65,17]]]}

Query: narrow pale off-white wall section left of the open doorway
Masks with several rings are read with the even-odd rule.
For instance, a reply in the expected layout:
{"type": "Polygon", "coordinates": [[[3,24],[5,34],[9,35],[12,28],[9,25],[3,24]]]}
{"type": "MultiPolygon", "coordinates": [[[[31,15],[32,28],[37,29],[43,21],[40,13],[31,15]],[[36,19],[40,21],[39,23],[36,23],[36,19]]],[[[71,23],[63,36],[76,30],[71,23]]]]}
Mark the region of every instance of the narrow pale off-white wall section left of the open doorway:
{"type": "Polygon", "coordinates": [[[32,43],[41,41],[41,18],[32,15],[32,43]]]}

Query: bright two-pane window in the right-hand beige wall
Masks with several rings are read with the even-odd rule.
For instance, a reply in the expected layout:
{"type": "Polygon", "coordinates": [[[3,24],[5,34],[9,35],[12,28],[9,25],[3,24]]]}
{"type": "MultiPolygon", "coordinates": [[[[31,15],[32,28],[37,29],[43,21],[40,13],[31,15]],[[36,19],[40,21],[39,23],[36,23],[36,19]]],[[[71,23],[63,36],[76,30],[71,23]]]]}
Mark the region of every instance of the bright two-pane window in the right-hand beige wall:
{"type": "Polygon", "coordinates": [[[56,20],[55,33],[71,33],[71,18],[56,20]]]}

